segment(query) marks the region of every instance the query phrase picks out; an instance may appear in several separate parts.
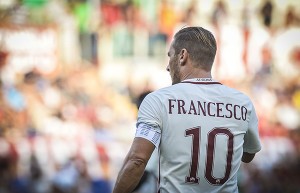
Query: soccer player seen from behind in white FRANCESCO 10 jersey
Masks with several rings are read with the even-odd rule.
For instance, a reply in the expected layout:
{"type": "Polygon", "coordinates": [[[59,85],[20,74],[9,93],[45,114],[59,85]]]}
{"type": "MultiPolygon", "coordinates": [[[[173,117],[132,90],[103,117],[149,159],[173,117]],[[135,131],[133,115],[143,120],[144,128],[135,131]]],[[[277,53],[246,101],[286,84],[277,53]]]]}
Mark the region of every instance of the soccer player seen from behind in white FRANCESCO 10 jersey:
{"type": "Polygon", "coordinates": [[[202,27],[179,30],[168,56],[172,86],[143,100],[132,146],[113,193],[130,193],[159,149],[160,193],[238,193],[241,161],[261,145],[251,100],[212,79],[214,36],[202,27]]]}

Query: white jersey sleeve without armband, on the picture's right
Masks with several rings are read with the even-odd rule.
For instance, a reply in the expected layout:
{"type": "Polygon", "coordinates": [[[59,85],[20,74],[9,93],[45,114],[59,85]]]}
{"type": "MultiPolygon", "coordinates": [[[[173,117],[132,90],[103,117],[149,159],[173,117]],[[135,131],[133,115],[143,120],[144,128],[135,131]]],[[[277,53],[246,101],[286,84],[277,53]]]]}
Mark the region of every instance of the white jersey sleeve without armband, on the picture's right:
{"type": "Polygon", "coordinates": [[[261,144],[258,133],[258,118],[254,106],[250,114],[248,130],[244,136],[244,152],[257,153],[261,150],[261,144]]]}

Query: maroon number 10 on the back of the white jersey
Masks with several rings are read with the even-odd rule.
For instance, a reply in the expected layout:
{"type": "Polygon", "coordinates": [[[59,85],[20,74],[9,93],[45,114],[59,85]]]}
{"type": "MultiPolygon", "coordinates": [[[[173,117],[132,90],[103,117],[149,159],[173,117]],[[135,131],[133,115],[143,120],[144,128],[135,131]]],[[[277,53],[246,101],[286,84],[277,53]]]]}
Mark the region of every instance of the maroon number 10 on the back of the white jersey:
{"type": "MultiPolygon", "coordinates": [[[[200,152],[200,140],[201,140],[201,127],[194,127],[185,130],[185,137],[192,137],[192,155],[191,155],[191,166],[188,176],[186,176],[185,182],[187,183],[199,183],[199,177],[197,177],[198,172],[198,162],[200,152]]],[[[206,165],[205,165],[205,178],[206,180],[213,185],[222,185],[224,184],[229,176],[231,171],[231,162],[233,154],[233,134],[228,128],[224,127],[215,127],[207,134],[207,149],[206,149],[206,165]],[[216,178],[213,176],[213,166],[214,166],[214,152],[215,152],[215,141],[218,135],[226,135],[228,138],[227,141],[227,156],[226,156],[226,166],[225,174],[222,178],[216,178]]],[[[226,149],[224,147],[224,149],[226,149]]]]}

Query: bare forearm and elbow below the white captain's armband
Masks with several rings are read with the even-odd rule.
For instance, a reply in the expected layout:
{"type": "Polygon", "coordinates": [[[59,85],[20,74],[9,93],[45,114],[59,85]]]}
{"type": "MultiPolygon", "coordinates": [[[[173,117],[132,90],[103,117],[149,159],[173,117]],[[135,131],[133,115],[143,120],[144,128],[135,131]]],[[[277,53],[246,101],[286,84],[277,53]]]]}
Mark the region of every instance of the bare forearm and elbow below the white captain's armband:
{"type": "Polygon", "coordinates": [[[155,148],[149,140],[135,137],[119,172],[113,193],[131,193],[140,181],[155,148]]]}

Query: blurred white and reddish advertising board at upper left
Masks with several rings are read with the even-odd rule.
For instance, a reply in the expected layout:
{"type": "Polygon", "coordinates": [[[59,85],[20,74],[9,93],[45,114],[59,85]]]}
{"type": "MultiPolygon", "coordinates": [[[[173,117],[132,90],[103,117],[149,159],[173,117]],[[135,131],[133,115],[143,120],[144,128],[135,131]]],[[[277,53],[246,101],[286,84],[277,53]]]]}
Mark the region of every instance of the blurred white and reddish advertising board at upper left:
{"type": "Polygon", "coordinates": [[[51,73],[58,63],[58,33],[53,26],[0,26],[0,50],[16,73],[51,73]]]}

